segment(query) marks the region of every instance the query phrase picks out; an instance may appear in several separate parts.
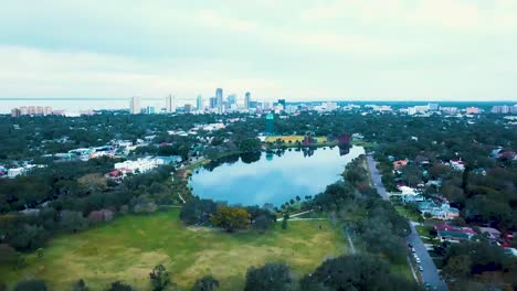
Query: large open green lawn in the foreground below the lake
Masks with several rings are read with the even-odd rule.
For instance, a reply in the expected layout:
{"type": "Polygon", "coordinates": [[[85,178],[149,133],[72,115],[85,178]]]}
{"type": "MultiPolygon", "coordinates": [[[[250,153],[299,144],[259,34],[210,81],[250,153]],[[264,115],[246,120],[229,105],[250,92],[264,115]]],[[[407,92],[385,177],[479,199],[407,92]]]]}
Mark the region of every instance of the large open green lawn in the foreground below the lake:
{"type": "Polygon", "coordinates": [[[91,290],[123,280],[149,290],[148,273],[162,263],[180,287],[213,274],[220,280],[220,290],[242,290],[251,266],[283,260],[299,278],[326,258],[347,251],[339,230],[328,222],[289,222],[286,230],[277,224],[263,235],[251,230],[228,234],[187,228],[178,216],[179,211],[126,215],[80,234],[60,236],[44,247],[42,258],[35,252],[27,255],[23,269],[0,266],[1,279],[9,284],[24,278],[44,279],[52,290],[70,290],[80,278],[91,290]]]}

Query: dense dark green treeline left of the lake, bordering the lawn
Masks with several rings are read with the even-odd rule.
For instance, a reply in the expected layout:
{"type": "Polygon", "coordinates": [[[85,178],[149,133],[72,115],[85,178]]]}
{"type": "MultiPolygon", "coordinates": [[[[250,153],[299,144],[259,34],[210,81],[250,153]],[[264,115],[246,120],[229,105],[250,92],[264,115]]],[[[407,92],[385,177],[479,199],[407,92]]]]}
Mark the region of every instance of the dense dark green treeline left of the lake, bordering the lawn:
{"type": "Polygon", "coordinates": [[[110,219],[113,213],[152,212],[160,204],[176,203],[169,182],[172,166],[127,177],[117,185],[98,174],[113,169],[113,162],[56,163],[28,176],[0,180],[0,205],[7,213],[0,215],[0,244],[17,250],[36,249],[55,233],[85,229],[110,219]],[[44,207],[18,212],[42,203],[44,207]]]}

